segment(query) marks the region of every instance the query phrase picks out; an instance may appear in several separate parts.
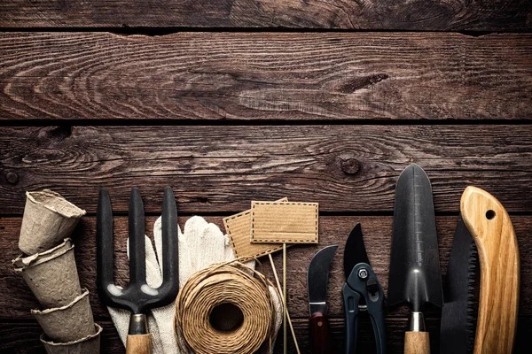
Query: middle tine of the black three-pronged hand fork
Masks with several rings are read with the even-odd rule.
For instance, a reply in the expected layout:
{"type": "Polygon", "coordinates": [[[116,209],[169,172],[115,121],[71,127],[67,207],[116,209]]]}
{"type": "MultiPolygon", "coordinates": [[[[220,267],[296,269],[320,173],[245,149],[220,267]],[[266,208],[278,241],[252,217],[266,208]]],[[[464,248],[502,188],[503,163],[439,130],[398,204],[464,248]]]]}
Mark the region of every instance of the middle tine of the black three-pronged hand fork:
{"type": "Polygon", "coordinates": [[[129,285],[146,283],[145,215],[140,191],[131,189],[129,199],[129,285]]]}

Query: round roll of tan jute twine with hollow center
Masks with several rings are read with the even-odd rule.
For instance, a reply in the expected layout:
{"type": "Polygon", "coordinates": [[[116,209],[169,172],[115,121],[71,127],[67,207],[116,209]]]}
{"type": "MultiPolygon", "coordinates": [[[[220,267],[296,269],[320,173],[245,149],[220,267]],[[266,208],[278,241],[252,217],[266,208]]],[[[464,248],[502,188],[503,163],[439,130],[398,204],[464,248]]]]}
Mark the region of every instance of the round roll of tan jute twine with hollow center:
{"type": "Polygon", "coordinates": [[[182,349],[197,354],[251,354],[262,345],[271,347],[276,312],[270,285],[262,273],[239,260],[192,274],[176,299],[176,331],[187,346],[182,349]],[[242,312],[238,328],[221,331],[212,326],[211,313],[221,304],[232,304],[242,312]]]}

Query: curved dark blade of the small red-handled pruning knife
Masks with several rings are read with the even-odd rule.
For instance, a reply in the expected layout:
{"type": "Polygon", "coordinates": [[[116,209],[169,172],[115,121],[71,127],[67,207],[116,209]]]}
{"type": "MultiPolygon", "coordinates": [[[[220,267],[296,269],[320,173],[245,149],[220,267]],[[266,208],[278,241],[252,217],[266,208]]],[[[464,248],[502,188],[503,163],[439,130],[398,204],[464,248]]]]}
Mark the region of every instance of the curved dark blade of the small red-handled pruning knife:
{"type": "Polygon", "coordinates": [[[337,248],[337,245],[332,245],[318,250],[310,261],[307,278],[310,314],[321,312],[325,315],[327,313],[327,305],[325,304],[327,299],[327,281],[329,280],[329,268],[332,258],[337,248]]]}

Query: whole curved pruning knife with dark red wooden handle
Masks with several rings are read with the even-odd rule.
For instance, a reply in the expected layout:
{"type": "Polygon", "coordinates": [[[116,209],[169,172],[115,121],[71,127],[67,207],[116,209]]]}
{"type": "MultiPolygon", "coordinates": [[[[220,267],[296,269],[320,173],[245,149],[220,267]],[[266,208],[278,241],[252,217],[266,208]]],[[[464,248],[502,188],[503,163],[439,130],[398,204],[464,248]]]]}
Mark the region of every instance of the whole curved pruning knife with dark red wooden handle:
{"type": "Polygon", "coordinates": [[[327,320],[327,282],[332,258],[337,245],[318,250],[309,265],[307,287],[309,289],[310,336],[312,354],[327,354],[332,350],[332,334],[327,320]]]}

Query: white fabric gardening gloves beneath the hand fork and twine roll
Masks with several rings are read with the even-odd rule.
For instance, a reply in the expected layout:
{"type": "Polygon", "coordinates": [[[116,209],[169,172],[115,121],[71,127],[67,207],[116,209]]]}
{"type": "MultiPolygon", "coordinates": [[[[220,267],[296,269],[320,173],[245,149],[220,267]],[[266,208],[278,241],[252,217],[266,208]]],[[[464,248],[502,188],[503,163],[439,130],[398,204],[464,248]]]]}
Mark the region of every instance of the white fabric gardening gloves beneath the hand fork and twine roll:
{"type": "MultiPolygon", "coordinates": [[[[153,225],[153,237],[157,258],[162,258],[162,238],[160,218],[153,225]]],[[[183,288],[188,278],[201,269],[215,263],[230,261],[234,258],[231,245],[227,235],[223,235],[215,224],[209,224],[201,217],[194,216],[184,224],[184,233],[178,227],[179,241],[179,288],[183,288]]],[[[162,271],[155,257],[152,242],[145,237],[146,248],[146,281],[153,288],[160,286],[162,282],[162,271]]],[[[129,257],[129,247],[128,247],[129,257]]],[[[254,261],[247,264],[254,267],[254,261]]],[[[282,321],[282,304],[278,298],[278,292],[270,289],[276,307],[276,333],[282,321]]],[[[121,337],[121,341],[126,343],[129,316],[126,310],[107,307],[114,326],[121,337]]],[[[153,354],[183,353],[177,345],[177,340],[183,341],[180,334],[177,340],[174,327],[175,304],[153,309],[148,315],[148,329],[152,334],[153,354]]],[[[263,353],[267,353],[265,348],[263,353]]]]}

